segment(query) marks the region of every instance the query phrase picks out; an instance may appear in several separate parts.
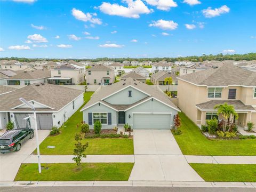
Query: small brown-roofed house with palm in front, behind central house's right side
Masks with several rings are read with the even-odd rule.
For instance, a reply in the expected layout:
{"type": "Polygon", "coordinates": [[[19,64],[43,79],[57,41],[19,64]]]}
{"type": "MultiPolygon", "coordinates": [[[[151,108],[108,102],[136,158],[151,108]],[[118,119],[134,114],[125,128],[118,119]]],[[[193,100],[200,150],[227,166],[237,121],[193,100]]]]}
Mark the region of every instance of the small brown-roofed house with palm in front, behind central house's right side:
{"type": "MultiPolygon", "coordinates": [[[[154,85],[165,85],[164,79],[167,77],[172,77],[172,85],[178,85],[177,75],[173,74],[171,71],[159,71],[151,75],[151,82],[154,85]]],[[[168,83],[166,83],[168,85],[168,83]]]]}

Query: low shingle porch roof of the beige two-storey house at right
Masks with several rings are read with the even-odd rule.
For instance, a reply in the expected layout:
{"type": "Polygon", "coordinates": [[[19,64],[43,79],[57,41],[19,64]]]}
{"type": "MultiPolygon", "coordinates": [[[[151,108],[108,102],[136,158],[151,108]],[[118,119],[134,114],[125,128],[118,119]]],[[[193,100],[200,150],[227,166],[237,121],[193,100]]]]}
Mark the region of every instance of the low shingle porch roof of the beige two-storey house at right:
{"type": "Polygon", "coordinates": [[[228,105],[233,105],[235,110],[255,110],[252,106],[246,106],[239,100],[211,100],[197,104],[196,106],[202,110],[213,110],[215,105],[224,104],[225,102],[228,103],[228,105]]]}

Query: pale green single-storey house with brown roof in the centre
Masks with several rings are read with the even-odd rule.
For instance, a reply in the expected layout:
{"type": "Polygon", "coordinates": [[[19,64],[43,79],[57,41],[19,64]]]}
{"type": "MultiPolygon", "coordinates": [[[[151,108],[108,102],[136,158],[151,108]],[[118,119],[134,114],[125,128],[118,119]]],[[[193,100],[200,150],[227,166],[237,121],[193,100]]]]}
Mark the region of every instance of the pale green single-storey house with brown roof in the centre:
{"type": "Polygon", "coordinates": [[[100,121],[102,129],[127,123],[132,129],[170,130],[180,110],[156,86],[127,78],[95,92],[81,111],[90,129],[100,121]]]}

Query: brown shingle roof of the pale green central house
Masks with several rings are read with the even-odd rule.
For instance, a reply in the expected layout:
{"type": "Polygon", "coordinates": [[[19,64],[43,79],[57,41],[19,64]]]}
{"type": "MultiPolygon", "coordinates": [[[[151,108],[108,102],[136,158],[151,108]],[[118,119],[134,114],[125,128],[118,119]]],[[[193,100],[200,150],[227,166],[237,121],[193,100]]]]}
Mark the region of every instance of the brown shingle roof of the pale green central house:
{"type": "Polygon", "coordinates": [[[157,86],[147,85],[145,83],[142,83],[142,82],[132,79],[130,77],[127,79],[124,79],[122,81],[119,81],[117,83],[114,83],[113,85],[107,85],[107,86],[102,87],[102,89],[100,89],[99,91],[95,92],[92,95],[91,100],[86,103],[86,105],[81,109],[81,111],[95,105],[98,102],[104,103],[105,105],[107,105],[110,108],[113,108],[115,110],[121,110],[121,109],[125,110],[125,109],[128,109],[130,107],[138,105],[139,103],[141,103],[145,100],[151,99],[151,98],[155,98],[155,99],[163,102],[165,105],[170,106],[171,108],[180,111],[179,108],[174,105],[174,103],[171,101],[171,99],[169,97],[167,97],[167,95],[164,92],[159,90],[157,88],[157,86]],[[117,92],[122,91],[122,90],[126,89],[127,87],[133,87],[134,89],[137,89],[143,93],[146,93],[146,94],[148,94],[148,97],[146,97],[140,101],[137,101],[131,105],[111,105],[110,103],[103,100],[104,98],[109,97],[111,94],[116,94],[117,92]]]}

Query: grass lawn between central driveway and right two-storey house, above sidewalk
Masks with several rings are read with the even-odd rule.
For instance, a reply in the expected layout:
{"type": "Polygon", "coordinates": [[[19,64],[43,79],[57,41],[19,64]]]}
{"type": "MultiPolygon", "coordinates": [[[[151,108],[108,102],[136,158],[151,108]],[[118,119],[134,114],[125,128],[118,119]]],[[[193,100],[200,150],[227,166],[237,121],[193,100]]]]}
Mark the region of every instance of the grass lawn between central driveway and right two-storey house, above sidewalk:
{"type": "Polygon", "coordinates": [[[175,135],[184,155],[256,155],[256,140],[209,140],[184,113],[181,118],[181,135],[175,135]]]}

